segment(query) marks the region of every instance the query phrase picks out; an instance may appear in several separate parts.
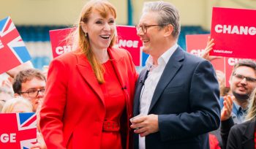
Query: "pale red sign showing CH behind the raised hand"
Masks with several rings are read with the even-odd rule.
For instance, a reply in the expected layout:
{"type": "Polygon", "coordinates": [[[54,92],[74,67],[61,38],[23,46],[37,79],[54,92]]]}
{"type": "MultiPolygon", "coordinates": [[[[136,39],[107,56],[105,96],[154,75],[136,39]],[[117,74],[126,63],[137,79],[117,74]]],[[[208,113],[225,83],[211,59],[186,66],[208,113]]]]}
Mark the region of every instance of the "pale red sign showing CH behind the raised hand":
{"type": "MultiPolygon", "coordinates": [[[[186,35],[187,52],[196,56],[201,56],[203,50],[206,48],[207,39],[210,34],[192,34],[186,35]]],[[[225,72],[224,58],[218,58],[211,61],[214,69],[225,72]]]]}

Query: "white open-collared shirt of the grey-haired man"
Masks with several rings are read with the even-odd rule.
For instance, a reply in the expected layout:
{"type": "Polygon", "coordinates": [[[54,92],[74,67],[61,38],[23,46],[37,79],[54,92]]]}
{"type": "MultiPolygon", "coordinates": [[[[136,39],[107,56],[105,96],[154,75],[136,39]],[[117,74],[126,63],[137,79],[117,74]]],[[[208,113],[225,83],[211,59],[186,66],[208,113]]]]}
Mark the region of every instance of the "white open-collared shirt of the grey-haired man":
{"type": "MultiPolygon", "coordinates": [[[[143,85],[143,88],[140,92],[140,115],[148,115],[148,110],[151,104],[154,91],[157,87],[157,83],[164,72],[165,66],[170,59],[170,56],[173,55],[174,51],[177,49],[178,45],[175,44],[173,47],[170,47],[165,53],[162,54],[157,59],[158,65],[153,64],[153,58],[148,57],[146,61],[146,67],[148,68],[148,77],[143,85]]],[[[139,148],[145,149],[145,137],[139,137],[139,148]]]]}

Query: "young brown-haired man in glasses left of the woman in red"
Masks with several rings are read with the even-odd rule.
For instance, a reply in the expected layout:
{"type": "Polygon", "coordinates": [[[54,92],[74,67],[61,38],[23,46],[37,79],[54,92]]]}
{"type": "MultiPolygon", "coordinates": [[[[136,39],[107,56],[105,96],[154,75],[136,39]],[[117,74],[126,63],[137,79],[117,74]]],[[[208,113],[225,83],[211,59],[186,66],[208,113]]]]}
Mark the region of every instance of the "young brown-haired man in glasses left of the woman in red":
{"type": "Polygon", "coordinates": [[[33,112],[37,112],[37,143],[31,148],[45,149],[45,142],[39,128],[39,111],[45,95],[45,75],[37,69],[23,69],[15,75],[12,88],[15,96],[22,96],[31,102],[33,112]]]}

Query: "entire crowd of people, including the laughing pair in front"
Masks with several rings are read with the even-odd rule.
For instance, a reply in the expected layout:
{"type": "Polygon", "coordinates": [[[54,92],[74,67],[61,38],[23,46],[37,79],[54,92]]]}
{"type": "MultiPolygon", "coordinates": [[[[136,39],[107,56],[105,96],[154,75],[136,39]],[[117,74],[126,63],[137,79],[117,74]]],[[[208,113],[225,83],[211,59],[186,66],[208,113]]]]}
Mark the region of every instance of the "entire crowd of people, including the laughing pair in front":
{"type": "Polygon", "coordinates": [[[48,73],[27,62],[0,75],[0,111],[37,113],[31,148],[256,148],[255,61],[225,78],[211,64],[214,39],[201,57],[185,52],[178,9],[151,1],[136,26],[149,55],[138,74],[114,47],[116,15],[108,1],[87,2],[68,37],[73,50],[48,73]]]}

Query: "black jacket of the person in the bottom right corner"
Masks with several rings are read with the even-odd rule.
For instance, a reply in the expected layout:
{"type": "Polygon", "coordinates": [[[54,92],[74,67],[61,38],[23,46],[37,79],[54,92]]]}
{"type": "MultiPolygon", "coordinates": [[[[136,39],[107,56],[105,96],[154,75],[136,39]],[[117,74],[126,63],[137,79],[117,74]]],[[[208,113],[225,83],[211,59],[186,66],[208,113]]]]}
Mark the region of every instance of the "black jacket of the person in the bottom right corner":
{"type": "Polygon", "coordinates": [[[255,118],[237,124],[230,129],[227,149],[255,149],[255,118]]]}

